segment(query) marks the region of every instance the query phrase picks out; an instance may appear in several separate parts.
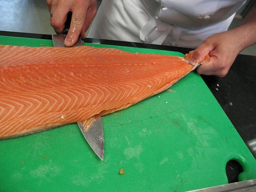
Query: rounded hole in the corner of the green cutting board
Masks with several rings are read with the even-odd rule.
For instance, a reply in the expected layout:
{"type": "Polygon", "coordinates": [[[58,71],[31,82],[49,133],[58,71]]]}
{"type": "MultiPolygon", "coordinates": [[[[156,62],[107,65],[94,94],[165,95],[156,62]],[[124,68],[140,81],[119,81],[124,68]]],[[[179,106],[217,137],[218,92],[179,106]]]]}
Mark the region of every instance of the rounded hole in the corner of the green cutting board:
{"type": "Polygon", "coordinates": [[[243,172],[242,166],[236,160],[230,160],[226,164],[228,183],[238,182],[238,175],[243,172]]]}

